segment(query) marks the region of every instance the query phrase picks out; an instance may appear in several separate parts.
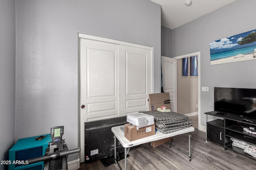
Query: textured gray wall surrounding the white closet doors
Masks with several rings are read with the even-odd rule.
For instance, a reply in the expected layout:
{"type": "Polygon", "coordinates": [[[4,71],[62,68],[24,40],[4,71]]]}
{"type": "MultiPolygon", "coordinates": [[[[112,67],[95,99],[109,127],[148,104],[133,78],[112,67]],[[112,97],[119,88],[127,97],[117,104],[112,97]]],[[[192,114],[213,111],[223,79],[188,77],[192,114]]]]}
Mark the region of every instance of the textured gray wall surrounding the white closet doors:
{"type": "Polygon", "coordinates": [[[149,0],[16,0],[15,140],[64,125],[78,147],[78,33],[154,47],[160,92],[160,12],[149,0]]]}

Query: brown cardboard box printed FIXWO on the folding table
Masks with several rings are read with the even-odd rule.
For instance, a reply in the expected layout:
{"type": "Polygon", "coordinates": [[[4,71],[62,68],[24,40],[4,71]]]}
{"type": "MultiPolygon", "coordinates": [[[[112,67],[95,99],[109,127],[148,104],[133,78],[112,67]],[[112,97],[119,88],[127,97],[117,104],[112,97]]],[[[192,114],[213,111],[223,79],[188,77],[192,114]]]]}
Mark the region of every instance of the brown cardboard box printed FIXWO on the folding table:
{"type": "Polygon", "coordinates": [[[135,141],[156,134],[156,127],[154,125],[149,125],[146,127],[141,127],[137,130],[137,127],[127,123],[124,125],[124,137],[129,141],[135,141]]]}

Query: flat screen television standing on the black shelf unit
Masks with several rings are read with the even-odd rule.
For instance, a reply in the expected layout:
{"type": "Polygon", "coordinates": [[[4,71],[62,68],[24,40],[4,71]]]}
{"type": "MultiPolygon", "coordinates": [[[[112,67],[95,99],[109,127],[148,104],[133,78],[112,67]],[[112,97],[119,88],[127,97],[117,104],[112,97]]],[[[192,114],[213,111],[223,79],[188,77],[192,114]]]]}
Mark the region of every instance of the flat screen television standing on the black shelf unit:
{"type": "Polygon", "coordinates": [[[214,87],[214,111],[256,118],[256,89],[214,87]]]}

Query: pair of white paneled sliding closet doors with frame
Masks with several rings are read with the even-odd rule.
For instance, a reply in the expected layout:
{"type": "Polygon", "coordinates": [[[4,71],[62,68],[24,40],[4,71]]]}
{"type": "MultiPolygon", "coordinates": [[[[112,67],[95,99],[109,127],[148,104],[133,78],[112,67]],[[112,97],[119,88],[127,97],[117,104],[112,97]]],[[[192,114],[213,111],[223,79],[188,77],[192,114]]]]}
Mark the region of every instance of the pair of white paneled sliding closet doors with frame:
{"type": "Polygon", "coordinates": [[[148,110],[152,47],[79,34],[80,162],[84,122],[148,110]]]}

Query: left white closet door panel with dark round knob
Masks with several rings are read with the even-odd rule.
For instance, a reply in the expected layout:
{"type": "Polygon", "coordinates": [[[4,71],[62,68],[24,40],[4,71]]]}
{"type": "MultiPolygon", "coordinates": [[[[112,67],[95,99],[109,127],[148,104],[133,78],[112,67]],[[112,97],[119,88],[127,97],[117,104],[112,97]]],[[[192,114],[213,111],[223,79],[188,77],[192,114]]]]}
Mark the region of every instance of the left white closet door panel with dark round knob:
{"type": "Polygon", "coordinates": [[[80,38],[81,162],[84,162],[84,122],[117,117],[118,110],[119,45],[80,38]]]}

